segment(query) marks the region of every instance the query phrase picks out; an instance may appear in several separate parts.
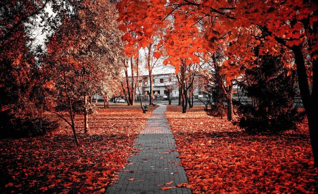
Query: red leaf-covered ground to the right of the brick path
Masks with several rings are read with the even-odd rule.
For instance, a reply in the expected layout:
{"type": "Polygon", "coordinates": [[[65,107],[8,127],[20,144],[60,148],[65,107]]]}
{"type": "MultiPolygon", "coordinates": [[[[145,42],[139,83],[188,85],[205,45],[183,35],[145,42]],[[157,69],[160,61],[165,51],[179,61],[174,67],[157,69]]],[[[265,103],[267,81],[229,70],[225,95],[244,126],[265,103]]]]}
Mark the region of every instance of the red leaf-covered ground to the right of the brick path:
{"type": "Polygon", "coordinates": [[[202,107],[166,112],[193,193],[316,193],[307,126],[248,134],[202,107]]]}

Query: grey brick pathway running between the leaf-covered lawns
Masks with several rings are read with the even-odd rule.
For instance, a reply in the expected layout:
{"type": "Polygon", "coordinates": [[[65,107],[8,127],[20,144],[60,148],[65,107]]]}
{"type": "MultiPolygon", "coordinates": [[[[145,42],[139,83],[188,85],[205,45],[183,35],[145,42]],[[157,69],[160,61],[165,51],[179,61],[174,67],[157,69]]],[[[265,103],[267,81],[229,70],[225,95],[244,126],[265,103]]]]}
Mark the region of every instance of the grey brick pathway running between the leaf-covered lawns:
{"type": "Polygon", "coordinates": [[[167,106],[160,105],[148,119],[146,128],[135,139],[139,155],[128,158],[129,164],[120,172],[119,180],[106,193],[191,193],[186,187],[162,190],[164,186],[176,186],[187,182],[187,177],[175,151],[175,140],[165,116],[167,106]],[[128,180],[135,178],[135,180],[128,180]],[[173,181],[170,185],[165,183],[173,181]]]}

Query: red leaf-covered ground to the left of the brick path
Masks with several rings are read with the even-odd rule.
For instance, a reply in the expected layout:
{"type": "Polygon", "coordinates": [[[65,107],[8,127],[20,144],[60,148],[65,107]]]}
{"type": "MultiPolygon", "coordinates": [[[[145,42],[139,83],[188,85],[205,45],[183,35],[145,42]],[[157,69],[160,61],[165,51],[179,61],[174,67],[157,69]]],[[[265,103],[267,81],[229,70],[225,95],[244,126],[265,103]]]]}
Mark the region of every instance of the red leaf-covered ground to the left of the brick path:
{"type": "Polygon", "coordinates": [[[0,139],[0,193],[101,193],[118,179],[145,127],[140,106],[111,104],[90,115],[89,133],[76,116],[81,148],[76,148],[69,126],[42,137],[0,139]]]}

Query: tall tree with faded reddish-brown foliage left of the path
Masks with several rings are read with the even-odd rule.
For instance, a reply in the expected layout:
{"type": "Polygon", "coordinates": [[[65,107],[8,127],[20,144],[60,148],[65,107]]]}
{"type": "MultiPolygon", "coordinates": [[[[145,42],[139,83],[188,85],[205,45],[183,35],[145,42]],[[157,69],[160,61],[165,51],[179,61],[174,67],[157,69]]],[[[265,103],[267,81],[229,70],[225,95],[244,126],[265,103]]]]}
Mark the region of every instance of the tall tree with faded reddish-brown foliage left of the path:
{"type": "Polygon", "coordinates": [[[87,132],[87,96],[96,93],[101,84],[110,84],[112,77],[119,76],[121,71],[118,63],[122,57],[121,34],[112,6],[113,3],[104,1],[82,1],[74,5],[74,15],[63,20],[47,44],[45,78],[56,88],[50,92],[51,98],[61,99],[55,102],[54,113],[72,127],[77,145],[74,106],[84,100],[84,131],[87,132]],[[64,110],[59,109],[61,105],[68,109],[71,121],[59,113],[64,110]]]}

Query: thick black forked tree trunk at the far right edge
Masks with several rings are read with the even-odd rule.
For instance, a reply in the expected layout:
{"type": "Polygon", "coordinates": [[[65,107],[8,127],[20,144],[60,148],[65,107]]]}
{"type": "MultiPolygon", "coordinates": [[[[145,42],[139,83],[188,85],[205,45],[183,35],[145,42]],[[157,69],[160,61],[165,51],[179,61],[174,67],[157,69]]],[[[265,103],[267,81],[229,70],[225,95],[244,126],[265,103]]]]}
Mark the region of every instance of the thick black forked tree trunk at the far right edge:
{"type": "Polygon", "coordinates": [[[312,60],[312,90],[309,92],[308,77],[305,62],[300,46],[293,46],[292,51],[295,55],[295,63],[298,77],[300,96],[308,118],[309,137],[312,148],[314,166],[318,167],[318,129],[315,121],[315,111],[317,110],[316,94],[316,71],[317,60],[312,60]]]}

